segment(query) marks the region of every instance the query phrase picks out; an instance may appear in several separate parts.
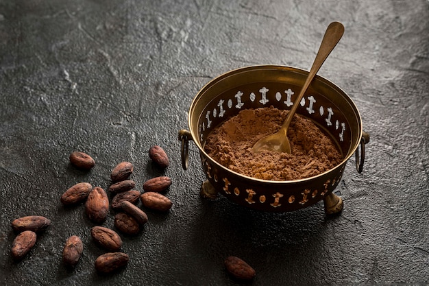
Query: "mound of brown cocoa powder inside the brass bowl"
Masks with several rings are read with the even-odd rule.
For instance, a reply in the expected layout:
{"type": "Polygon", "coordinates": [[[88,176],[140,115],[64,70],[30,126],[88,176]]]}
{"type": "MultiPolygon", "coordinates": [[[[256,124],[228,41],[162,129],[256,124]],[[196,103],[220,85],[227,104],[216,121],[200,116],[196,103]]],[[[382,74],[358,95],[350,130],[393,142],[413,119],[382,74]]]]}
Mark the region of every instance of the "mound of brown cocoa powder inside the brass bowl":
{"type": "Polygon", "coordinates": [[[273,106],[241,110],[208,134],[204,150],[228,169],[262,180],[299,180],[339,165],[343,158],[330,136],[297,114],[288,129],[292,154],[252,152],[256,141],[280,129],[288,112],[273,106]]]}

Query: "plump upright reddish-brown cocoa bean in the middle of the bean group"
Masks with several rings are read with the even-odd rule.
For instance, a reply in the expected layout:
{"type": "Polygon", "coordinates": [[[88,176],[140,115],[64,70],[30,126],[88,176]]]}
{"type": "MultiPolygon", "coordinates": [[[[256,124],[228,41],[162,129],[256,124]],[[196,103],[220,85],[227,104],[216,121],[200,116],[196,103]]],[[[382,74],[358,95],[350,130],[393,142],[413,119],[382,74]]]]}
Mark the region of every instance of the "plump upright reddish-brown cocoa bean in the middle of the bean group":
{"type": "Polygon", "coordinates": [[[100,187],[95,187],[93,191],[90,191],[85,209],[91,222],[96,224],[104,222],[109,211],[109,198],[106,191],[100,187]]]}

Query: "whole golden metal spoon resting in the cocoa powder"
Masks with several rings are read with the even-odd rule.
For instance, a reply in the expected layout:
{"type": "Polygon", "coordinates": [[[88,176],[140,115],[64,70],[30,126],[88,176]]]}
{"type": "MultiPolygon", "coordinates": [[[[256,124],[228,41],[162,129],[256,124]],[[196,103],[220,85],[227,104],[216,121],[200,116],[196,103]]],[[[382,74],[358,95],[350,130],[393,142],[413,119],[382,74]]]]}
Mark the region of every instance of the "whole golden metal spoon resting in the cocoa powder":
{"type": "Polygon", "coordinates": [[[328,58],[330,52],[332,49],[334,49],[343,34],[343,24],[339,22],[332,22],[329,24],[325,35],[323,36],[323,40],[321,41],[319,51],[317,51],[315,61],[312,63],[312,67],[308,73],[306,82],[304,83],[304,86],[302,86],[301,92],[299,93],[297,99],[295,99],[295,102],[293,102],[293,106],[291,110],[289,110],[282,127],[280,130],[278,130],[278,132],[259,139],[252,147],[252,152],[275,151],[289,154],[291,153],[291,144],[289,143],[289,139],[286,135],[289,124],[291,124],[293,115],[295,115],[298,104],[301,102],[301,99],[310,85],[310,82],[315,77],[317,71],[319,71],[321,65],[323,62],[325,62],[326,58],[328,58]]]}

